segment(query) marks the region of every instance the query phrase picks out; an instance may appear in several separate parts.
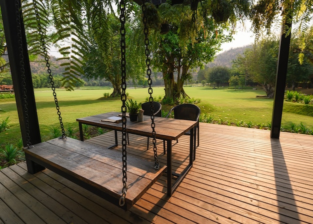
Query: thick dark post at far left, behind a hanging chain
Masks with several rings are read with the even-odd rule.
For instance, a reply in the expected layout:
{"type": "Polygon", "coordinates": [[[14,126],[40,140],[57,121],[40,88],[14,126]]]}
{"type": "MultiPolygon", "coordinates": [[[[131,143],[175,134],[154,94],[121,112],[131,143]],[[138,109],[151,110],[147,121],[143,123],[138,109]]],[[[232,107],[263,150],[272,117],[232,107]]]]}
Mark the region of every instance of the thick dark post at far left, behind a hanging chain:
{"type": "Polygon", "coordinates": [[[27,144],[27,134],[26,134],[27,120],[29,123],[30,130],[29,131],[30,143],[36,144],[41,142],[41,138],[31,80],[30,65],[27,53],[25,30],[21,11],[19,11],[20,31],[17,29],[19,26],[16,19],[17,15],[16,10],[20,9],[21,7],[20,0],[1,0],[0,6],[23,144],[24,146],[26,146],[27,144]],[[21,35],[18,35],[19,32],[21,33],[21,35]],[[20,63],[21,62],[20,46],[22,47],[23,66],[21,66],[20,63]],[[21,77],[22,67],[25,74],[24,80],[21,77]],[[25,97],[22,85],[23,81],[25,82],[24,86],[26,90],[26,103],[28,112],[25,112],[24,106],[25,97]]]}

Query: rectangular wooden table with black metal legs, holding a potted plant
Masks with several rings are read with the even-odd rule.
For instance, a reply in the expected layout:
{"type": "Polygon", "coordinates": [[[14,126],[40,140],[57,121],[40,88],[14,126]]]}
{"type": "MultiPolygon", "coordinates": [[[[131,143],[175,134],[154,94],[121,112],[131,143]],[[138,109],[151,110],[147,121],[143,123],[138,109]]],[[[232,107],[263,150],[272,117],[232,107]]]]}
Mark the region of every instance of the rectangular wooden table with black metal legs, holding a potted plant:
{"type": "MultiPolygon", "coordinates": [[[[96,127],[107,128],[110,130],[121,131],[122,124],[121,123],[113,123],[113,122],[104,122],[102,119],[118,116],[118,112],[109,112],[98,114],[94,116],[88,116],[83,118],[78,118],[79,124],[79,133],[80,136],[83,136],[82,133],[82,124],[92,125],[96,127]]],[[[171,194],[176,190],[179,183],[185,177],[187,172],[192,167],[193,162],[193,134],[194,128],[197,125],[196,121],[189,120],[180,120],[180,119],[172,119],[172,118],[164,118],[164,117],[154,117],[155,123],[155,137],[157,139],[161,139],[166,141],[166,149],[167,149],[167,174],[171,173],[177,177],[176,181],[172,183],[172,175],[167,175],[167,195],[171,196],[171,194]],[[180,136],[190,130],[190,145],[189,145],[189,164],[186,168],[179,174],[172,173],[172,154],[171,154],[171,141],[177,140],[180,136]]],[[[152,137],[152,129],[151,129],[151,119],[150,116],[144,116],[142,122],[130,122],[127,119],[126,123],[126,131],[130,134],[136,134],[145,137],[152,137]]],[[[81,140],[83,138],[80,137],[81,140]]],[[[117,145],[117,138],[115,137],[115,145],[117,145]]]]}

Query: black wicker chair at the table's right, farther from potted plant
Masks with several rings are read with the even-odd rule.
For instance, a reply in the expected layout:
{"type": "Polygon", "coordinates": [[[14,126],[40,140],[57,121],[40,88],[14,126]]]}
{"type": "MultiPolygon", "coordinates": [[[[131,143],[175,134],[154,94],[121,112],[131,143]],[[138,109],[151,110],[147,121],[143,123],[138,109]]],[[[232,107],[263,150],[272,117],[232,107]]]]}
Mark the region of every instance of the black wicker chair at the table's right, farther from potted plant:
{"type": "MultiPolygon", "coordinates": [[[[175,119],[183,119],[190,121],[197,121],[197,125],[194,129],[193,134],[193,159],[195,159],[195,148],[199,146],[199,117],[200,117],[200,108],[194,104],[179,104],[170,109],[167,113],[166,117],[173,112],[173,118],[175,119]],[[195,141],[197,139],[197,145],[195,146],[195,141]]],[[[185,133],[186,135],[190,135],[190,131],[185,133]]],[[[178,142],[178,139],[177,141],[178,142]]],[[[165,141],[163,141],[163,147],[165,150],[165,141]]]]}

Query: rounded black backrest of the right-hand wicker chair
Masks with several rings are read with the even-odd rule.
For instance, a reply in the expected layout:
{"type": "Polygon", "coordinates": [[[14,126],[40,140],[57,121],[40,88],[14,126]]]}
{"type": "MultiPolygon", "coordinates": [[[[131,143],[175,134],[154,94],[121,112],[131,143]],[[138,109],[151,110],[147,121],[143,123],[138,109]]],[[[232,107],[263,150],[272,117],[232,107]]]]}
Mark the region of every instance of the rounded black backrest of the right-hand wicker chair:
{"type": "Polygon", "coordinates": [[[169,113],[171,111],[174,112],[174,118],[176,119],[198,121],[200,116],[200,108],[194,104],[179,104],[173,107],[169,113]]]}

